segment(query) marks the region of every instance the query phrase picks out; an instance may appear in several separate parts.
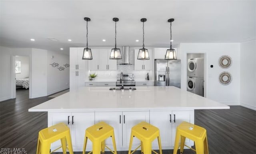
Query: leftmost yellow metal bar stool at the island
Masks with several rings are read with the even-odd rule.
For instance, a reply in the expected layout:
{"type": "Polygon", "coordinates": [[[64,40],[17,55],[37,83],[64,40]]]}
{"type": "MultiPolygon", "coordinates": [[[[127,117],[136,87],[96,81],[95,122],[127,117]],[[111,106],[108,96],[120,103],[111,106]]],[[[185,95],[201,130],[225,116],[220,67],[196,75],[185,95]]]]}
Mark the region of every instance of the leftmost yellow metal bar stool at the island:
{"type": "Polygon", "coordinates": [[[73,154],[70,129],[64,123],[59,123],[39,131],[36,154],[50,154],[58,150],[59,148],[50,152],[51,143],[57,140],[61,141],[62,146],[59,148],[62,147],[63,154],[67,153],[66,149],[68,149],[70,154],[73,154]]]}

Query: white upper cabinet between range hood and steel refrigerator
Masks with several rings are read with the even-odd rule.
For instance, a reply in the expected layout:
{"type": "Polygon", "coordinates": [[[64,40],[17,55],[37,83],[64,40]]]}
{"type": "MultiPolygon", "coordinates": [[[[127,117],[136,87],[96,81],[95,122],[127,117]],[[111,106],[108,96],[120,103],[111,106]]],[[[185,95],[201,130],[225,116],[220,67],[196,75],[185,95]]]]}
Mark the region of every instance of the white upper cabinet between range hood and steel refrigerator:
{"type": "Polygon", "coordinates": [[[134,50],[134,70],[151,70],[152,68],[152,50],[148,49],[149,60],[138,60],[139,49],[134,50]]]}

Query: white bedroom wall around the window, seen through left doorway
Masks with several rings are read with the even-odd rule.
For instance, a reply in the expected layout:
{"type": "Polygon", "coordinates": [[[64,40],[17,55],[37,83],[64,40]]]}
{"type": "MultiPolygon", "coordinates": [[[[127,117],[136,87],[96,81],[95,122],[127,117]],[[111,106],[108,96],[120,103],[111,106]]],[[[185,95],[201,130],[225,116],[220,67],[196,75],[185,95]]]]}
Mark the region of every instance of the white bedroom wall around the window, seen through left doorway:
{"type": "Polygon", "coordinates": [[[16,79],[29,78],[29,56],[16,56],[15,61],[20,61],[20,73],[16,74],[16,79]]]}

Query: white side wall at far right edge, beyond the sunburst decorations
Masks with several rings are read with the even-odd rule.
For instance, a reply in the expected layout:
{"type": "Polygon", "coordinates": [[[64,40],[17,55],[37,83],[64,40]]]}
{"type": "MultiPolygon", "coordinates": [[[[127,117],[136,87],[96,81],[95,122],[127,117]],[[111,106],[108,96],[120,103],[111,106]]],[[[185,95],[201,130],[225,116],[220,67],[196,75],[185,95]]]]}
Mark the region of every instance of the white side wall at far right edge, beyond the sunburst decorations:
{"type": "Polygon", "coordinates": [[[256,110],[256,40],[240,45],[241,106],[256,110]]]}

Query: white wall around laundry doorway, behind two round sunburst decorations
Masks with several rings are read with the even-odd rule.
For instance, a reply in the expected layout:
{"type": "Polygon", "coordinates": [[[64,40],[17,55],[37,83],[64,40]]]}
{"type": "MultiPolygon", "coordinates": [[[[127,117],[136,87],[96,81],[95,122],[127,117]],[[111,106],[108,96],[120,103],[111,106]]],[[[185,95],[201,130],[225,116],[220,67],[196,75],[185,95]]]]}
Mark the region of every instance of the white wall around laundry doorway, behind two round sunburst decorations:
{"type": "Polygon", "coordinates": [[[187,53],[206,54],[206,97],[227,105],[240,105],[240,43],[181,43],[181,89],[186,90],[186,56],[187,53]],[[232,58],[233,64],[228,69],[218,66],[222,55],[232,58]],[[213,68],[210,68],[213,65],[213,68]],[[232,75],[232,83],[223,86],[218,82],[221,72],[228,71],[232,75]]]}

